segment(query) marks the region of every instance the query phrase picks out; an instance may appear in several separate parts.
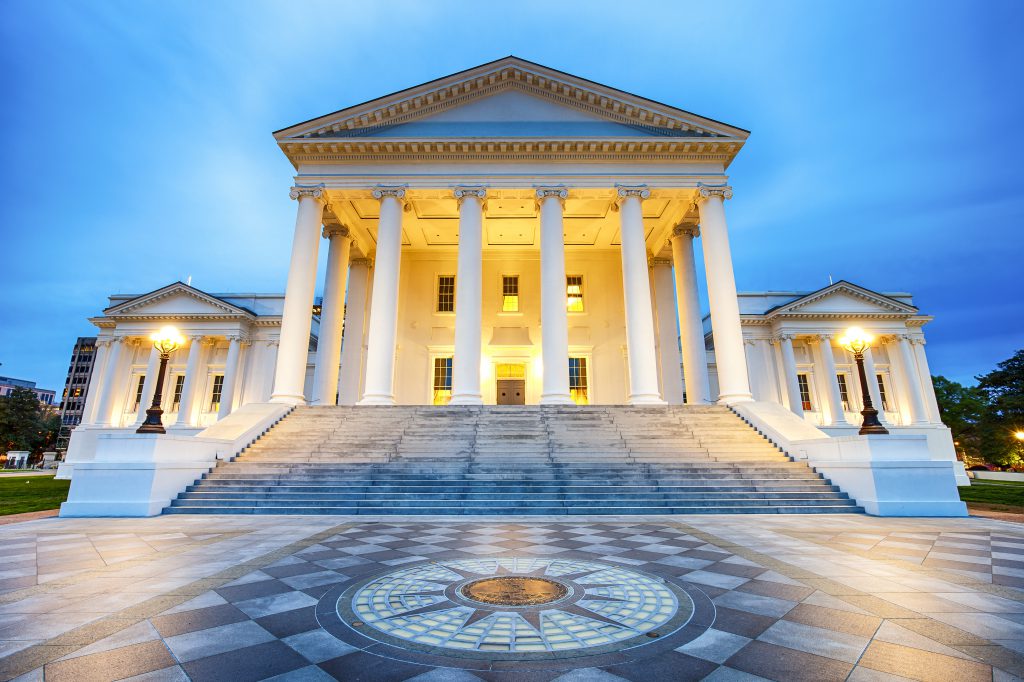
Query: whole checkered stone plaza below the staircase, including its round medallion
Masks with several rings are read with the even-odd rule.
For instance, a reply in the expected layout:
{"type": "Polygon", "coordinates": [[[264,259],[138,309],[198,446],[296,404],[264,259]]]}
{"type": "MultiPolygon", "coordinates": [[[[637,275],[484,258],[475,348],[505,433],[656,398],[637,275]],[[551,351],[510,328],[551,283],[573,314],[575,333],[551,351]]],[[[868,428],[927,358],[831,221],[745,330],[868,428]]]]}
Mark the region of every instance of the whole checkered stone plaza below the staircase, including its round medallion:
{"type": "Polygon", "coordinates": [[[1024,675],[1024,525],[990,519],[47,518],[0,547],[3,680],[1024,675]],[[548,601],[473,587],[516,576],[548,601]]]}

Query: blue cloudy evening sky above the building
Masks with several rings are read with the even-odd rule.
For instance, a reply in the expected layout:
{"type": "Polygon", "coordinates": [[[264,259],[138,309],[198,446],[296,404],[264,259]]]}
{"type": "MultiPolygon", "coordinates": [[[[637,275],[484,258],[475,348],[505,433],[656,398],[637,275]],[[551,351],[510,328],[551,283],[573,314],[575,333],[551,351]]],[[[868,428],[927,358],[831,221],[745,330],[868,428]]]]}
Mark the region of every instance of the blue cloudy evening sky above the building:
{"type": "Polygon", "coordinates": [[[753,131],[739,289],[910,291],[971,380],[1024,347],[1022,35],[1021,2],[4,0],[0,374],[60,389],[111,293],[283,291],[271,131],[516,54],[753,131]]]}

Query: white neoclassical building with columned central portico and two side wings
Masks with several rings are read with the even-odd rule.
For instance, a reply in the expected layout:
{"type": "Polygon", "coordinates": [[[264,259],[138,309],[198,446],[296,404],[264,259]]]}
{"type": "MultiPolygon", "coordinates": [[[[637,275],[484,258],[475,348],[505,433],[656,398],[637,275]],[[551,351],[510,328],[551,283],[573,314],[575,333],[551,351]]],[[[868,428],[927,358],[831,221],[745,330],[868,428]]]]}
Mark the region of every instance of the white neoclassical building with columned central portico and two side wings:
{"type": "Polygon", "coordinates": [[[954,462],[908,294],[737,294],[726,172],[748,134],[516,57],[280,130],[297,210],[284,295],[112,297],[61,475],[144,418],[144,339],[166,324],[188,339],[163,395],[179,445],[336,403],[717,401],[779,439],[793,422],[772,420],[842,439],[862,396],[836,338],[856,325],[881,341],[884,422],[954,462]]]}

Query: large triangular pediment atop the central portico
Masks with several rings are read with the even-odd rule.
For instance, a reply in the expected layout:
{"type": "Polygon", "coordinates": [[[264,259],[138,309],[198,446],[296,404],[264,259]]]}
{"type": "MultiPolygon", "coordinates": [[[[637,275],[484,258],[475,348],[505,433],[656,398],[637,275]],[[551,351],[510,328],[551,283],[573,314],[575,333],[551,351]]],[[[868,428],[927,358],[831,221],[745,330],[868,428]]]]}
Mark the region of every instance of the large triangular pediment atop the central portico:
{"type": "Polygon", "coordinates": [[[282,143],[375,136],[648,136],[741,142],[748,134],[741,128],[509,56],[279,130],[274,136],[282,143]],[[505,111],[503,104],[508,105],[505,111]],[[464,126],[462,133],[459,124],[464,126]]]}

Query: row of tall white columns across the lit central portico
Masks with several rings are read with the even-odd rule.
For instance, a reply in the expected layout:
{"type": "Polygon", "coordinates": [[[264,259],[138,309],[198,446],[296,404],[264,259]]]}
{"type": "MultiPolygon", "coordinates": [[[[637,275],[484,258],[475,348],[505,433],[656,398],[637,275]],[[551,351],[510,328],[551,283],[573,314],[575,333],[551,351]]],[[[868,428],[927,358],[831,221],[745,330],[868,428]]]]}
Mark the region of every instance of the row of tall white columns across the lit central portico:
{"type": "MultiPolygon", "coordinates": [[[[380,201],[377,259],[373,275],[373,301],[367,333],[366,387],[359,404],[394,404],[394,355],[397,333],[397,299],[401,257],[401,215],[404,189],[378,187],[380,201]]],[[[632,404],[660,404],[655,328],[651,309],[650,281],[643,227],[642,202],[650,196],[643,186],[617,188],[621,217],[623,291],[630,374],[629,401],[632,404]]],[[[304,401],[305,358],[311,327],[315,288],[319,225],[327,202],[324,185],[296,186],[291,196],[298,200],[291,265],[282,314],[281,350],[274,374],[272,401],[304,401]]],[[[481,404],[480,356],[482,319],[482,224],[486,190],[479,186],[454,189],[459,201],[459,255],[456,276],[456,314],[453,359],[452,404],[481,404]]],[[[750,400],[746,364],[739,327],[739,309],[732,271],[723,201],[732,196],[726,186],[700,185],[696,207],[703,229],[705,266],[708,276],[711,317],[716,353],[719,357],[720,401],[750,400]]],[[[565,187],[539,187],[536,199],[541,218],[541,331],[543,380],[542,404],[571,404],[568,381],[568,324],[565,294],[565,243],[563,212],[568,197],[565,187]]],[[[673,264],[676,268],[678,315],[683,330],[683,367],[690,402],[710,401],[710,383],[705,360],[696,292],[693,239],[696,226],[677,229],[673,235],[673,264]]],[[[338,358],[342,325],[338,315],[345,299],[346,274],[351,240],[343,227],[325,228],[330,240],[328,274],[325,285],[321,339],[313,379],[312,401],[333,404],[337,395],[338,358]]],[[[664,275],[662,275],[664,282],[664,275]]],[[[351,294],[349,296],[351,298],[351,294]]],[[[361,312],[359,312],[361,314],[361,312]]],[[[354,322],[354,321],[353,321],[354,322]]],[[[361,346],[361,318],[348,345],[361,346]]],[[[346,319],[348,325],[349,321],[346,319]]],[[[663,346],[665,342],[663,341],[663,346]]],[[[361,348],[358,348],[361,351],[361,348]]],[[[344,376],[349,361],[341,363],[344,376]]]]}

